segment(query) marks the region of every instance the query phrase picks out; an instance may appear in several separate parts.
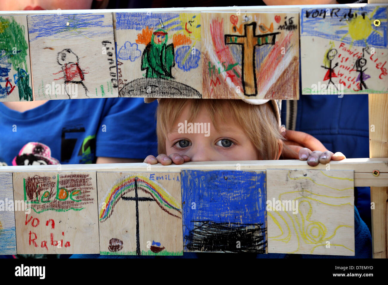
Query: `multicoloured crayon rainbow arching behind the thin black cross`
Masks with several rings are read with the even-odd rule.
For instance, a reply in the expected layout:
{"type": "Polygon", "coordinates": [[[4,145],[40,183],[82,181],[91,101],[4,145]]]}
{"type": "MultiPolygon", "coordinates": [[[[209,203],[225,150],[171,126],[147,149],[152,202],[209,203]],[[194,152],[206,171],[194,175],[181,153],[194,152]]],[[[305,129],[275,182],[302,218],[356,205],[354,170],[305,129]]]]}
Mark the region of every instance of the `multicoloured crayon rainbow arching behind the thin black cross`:
{"type": "Polygon", "coordinates": [[[137,177],[138,190],[151,195],[158,206],[166,213],[182,219],[181,203],[178,203],[162,185],[145,176],[128,175],[116,180],[106,192],[99,205],[99,219],[101,222],[106,221],[112,215],[114,206],[121,197],[135,190],[135,177],[137,177]]]}

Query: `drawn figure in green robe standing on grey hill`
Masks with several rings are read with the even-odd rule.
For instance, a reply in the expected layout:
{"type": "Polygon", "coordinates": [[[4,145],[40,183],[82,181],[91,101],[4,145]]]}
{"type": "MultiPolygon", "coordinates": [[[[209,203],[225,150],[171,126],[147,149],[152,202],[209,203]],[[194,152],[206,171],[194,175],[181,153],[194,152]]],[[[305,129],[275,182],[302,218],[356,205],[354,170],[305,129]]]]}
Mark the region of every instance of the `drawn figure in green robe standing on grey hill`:
{"type": "Polygon", "coordinates": [[[142,55],[142,70],[146,70],[147,78],[173,78],[171,67],[175,66],[174,46],[171,43],[166,45],[167,33],[158,29],[152,34],[149,43],[142,55]]]}

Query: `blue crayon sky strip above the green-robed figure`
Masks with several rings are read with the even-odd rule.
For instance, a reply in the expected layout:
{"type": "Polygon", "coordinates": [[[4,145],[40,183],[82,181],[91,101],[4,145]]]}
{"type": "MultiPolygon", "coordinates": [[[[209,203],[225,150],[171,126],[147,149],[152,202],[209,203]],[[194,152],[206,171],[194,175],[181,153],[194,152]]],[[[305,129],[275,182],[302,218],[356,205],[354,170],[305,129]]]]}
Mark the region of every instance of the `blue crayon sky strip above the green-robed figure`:
{"type": "Polygon", "coordinates": [[[180,31],[183,29],[179,19],[179,13],[116,13],[116,29],[118,30],[135,29],[141,31],[146,26],[150,29],[161,28],[166,31],[180,31]],[[162,21],[164,28],[161,28],[159,19],[162,21]]]}

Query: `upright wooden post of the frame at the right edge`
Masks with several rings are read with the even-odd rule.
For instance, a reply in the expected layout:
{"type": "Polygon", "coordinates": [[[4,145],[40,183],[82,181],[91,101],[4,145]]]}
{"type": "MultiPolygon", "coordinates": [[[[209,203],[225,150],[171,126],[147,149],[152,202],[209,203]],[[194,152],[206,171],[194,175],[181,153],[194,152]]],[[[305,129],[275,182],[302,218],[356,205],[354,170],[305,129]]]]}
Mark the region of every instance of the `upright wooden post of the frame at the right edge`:
{"type": "MultiPolygon", "coordinates": [[[[388,156],[388,94],[369,94],[369,125],[369,156],[388,156]]],[[[388,187],[371,187],[371,202],[373,257],[388,258],[388,187]]]]}

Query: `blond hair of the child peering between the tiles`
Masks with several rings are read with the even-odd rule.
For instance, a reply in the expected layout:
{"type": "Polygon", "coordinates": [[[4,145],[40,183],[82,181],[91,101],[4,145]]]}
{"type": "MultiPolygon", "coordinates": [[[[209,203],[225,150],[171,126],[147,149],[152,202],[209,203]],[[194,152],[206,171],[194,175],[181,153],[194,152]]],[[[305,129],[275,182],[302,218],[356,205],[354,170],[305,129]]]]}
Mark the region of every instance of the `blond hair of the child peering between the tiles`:
{"type": "Polygon", "coordinates": [[[279,144],[282,145],[284,138],[271,101],[262,105],[251,105],[239,99],[161,98],[156,111],[159,154],[166,153],[167,134],[174,128],[174,123],[187,104],[190,104],[190,117],[187,122],[193,122],[201,109],[206,108],[215,129],[218,130],[217,119],[222,121],[225,116],[232,116],[255,146],[260,160],[277,159],[279,144]]]}

